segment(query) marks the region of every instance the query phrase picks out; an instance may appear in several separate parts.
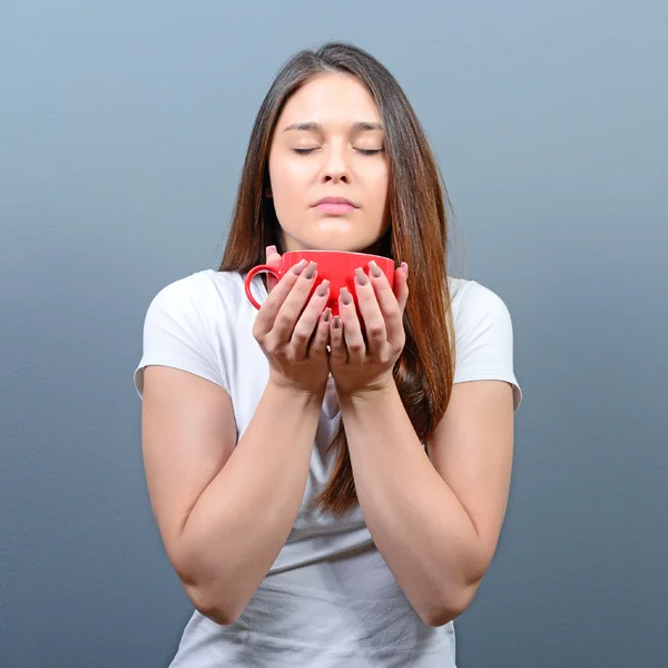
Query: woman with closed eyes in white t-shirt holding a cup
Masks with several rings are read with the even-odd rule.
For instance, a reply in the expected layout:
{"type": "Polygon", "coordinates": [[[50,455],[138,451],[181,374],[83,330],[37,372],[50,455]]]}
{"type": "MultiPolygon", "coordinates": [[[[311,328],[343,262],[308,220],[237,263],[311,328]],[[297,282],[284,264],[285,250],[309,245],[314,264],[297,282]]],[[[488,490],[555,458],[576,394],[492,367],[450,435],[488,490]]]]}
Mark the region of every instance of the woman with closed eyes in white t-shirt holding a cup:
{"type": "Polygon", "coordinates": [[[145,322],[148,490],[196,608],[173,667],[454,666],[521,393],[504,303],[446,275],[444,196],[381,63],[342,43],[286,63],[219,269],[165,287],[145,322]],[[304,248],[395,259],[394,291],[373,265],[357,273],[367,336],[348,292],[332,317],[313,264],[268,294],[256,278],[262,307],[248,303],[253,266],[304,248]]]}

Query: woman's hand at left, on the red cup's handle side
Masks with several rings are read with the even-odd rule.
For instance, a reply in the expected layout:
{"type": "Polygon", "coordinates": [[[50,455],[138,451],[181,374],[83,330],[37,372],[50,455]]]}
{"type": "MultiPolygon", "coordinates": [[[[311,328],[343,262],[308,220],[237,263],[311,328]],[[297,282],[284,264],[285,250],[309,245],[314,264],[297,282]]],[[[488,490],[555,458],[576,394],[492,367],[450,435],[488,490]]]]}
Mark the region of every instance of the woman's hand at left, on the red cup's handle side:
{"type": "MultiPolygon", "coordinates": [[[[266,264],[281,266],[281,255],[267,250],[266,264]]],[[[322,396],[330,374],[332,313],[325,308],[327,281],[308,299],[316,279],[316,263],[302,261],[286,272],[257,312],[253,336],[269,361],[269,382],[322,396]]]]}

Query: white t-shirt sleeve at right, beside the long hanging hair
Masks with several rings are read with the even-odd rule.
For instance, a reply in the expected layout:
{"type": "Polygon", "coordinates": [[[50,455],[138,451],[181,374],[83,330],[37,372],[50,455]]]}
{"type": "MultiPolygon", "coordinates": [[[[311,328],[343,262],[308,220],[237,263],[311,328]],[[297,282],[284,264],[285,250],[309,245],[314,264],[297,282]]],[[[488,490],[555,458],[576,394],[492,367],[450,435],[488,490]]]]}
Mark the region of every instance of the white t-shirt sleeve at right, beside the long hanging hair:
{"type": "Polygon", "coordinates": [[[454,382],[505,381],[513,386],[517,411],[522,391],[513,369],[513,331],[510,312],[499,295],[475,281],[453,297],[456,334],[454,382]]]}

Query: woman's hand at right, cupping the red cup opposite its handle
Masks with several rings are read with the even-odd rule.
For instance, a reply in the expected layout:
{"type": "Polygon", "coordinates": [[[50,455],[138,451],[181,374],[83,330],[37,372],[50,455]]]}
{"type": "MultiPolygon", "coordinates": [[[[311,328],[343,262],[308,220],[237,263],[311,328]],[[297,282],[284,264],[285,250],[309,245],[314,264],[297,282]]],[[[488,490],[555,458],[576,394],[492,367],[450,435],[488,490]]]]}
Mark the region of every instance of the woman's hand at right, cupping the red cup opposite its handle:
{"type": "Polygon", "coordinates": [[[402,263],[394,271],[394,292],[374,262],[369,268],[369,276],[363,269],[355,272],[355,292],[366,336],[346,288],[338,297],[341,316],[330,324],[330,371],[340,397],[367,394],[394,384],[392,370],[405,344],[403,312],[409,298],[409,267],[402,263]]]}

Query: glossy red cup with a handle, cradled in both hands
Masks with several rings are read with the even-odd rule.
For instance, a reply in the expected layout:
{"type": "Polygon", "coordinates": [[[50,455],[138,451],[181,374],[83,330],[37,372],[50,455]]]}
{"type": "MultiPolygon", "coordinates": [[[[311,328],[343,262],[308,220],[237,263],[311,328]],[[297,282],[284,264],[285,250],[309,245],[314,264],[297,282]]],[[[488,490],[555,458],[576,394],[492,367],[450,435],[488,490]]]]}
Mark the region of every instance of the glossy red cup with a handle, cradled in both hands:
{"type": "MultiPolygon", "coordinates": [[[[357,305],[357,294],[355,292],[355,269],[361,267],[365,274],[369,274],[369,263],[373,259],[383,274],[387,277],[390,287],[394,288],[394,261],[381,255],[369,255],[366,253],[351,253],[346,250],[288,250],[283,254],[283,264],[277,267],[268,265],[258,265],[253,267],[245,281],[246,296],[255,308],[259,308],[257,299],[250,293],[250,282],[261,272],[267,272],[274,275],[278,281],[294,265],[306,259],[317,263],[317,278],[313,284],[311,295],[317,286],[326,278],[330,281],[330,298],[327,305],[332,310],[332,315],[338,315],[338,292],[342,287],[347,287],[355,306],[357,305]]],[[[310,297],[311,297],[310,295],[310,297]]]]}

